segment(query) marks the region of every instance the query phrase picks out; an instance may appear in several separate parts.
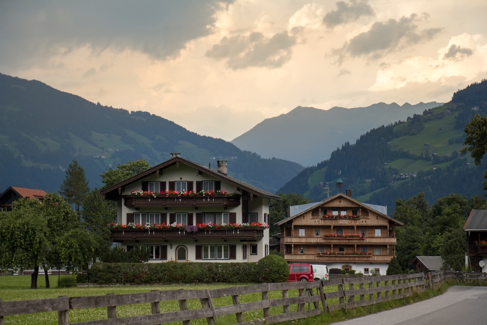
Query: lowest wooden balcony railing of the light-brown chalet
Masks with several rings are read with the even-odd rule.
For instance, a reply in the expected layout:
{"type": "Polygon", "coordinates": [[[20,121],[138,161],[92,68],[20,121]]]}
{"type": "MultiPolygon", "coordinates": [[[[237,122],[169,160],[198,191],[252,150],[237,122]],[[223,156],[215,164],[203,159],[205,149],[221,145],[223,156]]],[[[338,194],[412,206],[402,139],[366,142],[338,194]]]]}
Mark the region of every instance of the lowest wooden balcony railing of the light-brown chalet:
{"type": "Polygon", "coordinates": [[[382,262],[389,263],[395,255],[317,255],[317,254],[284,254],[286,261],[313,262],[382,262]]]}

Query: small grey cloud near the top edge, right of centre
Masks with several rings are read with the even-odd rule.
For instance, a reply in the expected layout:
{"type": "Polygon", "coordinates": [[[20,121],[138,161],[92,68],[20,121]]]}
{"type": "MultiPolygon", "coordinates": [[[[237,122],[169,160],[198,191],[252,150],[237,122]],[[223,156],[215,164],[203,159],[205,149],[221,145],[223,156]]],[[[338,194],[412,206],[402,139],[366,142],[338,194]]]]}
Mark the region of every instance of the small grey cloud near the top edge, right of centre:
{"type": "Polygon", "coordinates": [[[359,19],[361,16],[374,16],[374,9],[363,0],[351,0],[350,4],[345,1],[336,3],[337,10],[330,11],[323,18],[323,23],[333,28],[337,25],[359,19]]]}

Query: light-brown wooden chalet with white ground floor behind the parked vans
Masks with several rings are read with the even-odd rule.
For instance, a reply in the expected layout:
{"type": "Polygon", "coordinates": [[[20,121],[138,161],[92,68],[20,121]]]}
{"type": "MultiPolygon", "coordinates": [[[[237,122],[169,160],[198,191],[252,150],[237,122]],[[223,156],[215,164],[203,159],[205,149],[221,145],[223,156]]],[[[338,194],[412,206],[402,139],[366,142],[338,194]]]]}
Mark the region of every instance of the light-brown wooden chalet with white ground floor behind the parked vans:
{"type": "Polygon", "coordinates": [[[395,256],[395,227],[403,223],[388,216],[386,207],[360,203],[346,192],[290,207],[289,217],[276,223],[280,250],[289,263],[384,275],[395,256]]]}

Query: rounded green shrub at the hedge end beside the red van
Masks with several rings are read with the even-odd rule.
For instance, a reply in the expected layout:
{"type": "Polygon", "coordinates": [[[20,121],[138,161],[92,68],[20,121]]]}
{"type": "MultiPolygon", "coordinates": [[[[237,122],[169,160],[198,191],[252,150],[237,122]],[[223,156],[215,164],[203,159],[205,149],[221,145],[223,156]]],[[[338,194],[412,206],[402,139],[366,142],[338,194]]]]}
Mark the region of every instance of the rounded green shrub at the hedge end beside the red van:
{"type": "Polygon", "coordinates": [[[255,276],[259,282],[285,282],[289,278],[289,265],[283,257],[269,254],[257,262],[255,276]]]}

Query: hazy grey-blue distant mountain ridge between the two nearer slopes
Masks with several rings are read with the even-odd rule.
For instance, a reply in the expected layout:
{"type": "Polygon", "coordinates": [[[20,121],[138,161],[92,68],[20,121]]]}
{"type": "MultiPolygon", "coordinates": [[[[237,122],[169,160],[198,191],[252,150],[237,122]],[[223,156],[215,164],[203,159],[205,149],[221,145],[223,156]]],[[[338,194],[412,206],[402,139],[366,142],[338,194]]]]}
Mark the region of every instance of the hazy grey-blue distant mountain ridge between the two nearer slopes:
{"type": "Polygon", "coordinates": [[[355,142],[373,128],[404,121],[440,105],[420,102],[399,106],[381,102],[368,107],[333,107],[326,111],[298,106],[287,114],[263,120],[231,143],[264,158],[277,157],[312,166],[327,159],[343,143],[355,142]]]}

